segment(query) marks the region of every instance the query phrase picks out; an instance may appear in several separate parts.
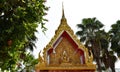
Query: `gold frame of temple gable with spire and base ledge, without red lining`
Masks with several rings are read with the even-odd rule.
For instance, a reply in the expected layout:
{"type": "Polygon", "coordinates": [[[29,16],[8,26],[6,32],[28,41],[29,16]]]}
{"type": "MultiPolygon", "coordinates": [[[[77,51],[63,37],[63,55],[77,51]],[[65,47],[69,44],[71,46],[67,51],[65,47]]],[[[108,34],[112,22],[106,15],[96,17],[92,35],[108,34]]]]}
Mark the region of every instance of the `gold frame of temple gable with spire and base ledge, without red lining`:
{"type": "MultiPolygon", "coordinates": [[[[61,23],[58,27],[58,29],[55,31],[55,35],[54,37],[51,39],[51,41],[46,45],[46,47],[44,48],[43,50],[43,58],[41,58],[41,56],[39,56],[39,63],[35,66],[35,68],[37,70],[64,70],[64,69],[80,69],[80,70],[95,70],[96,69],[96,65],[93,64],[93,55],[91,54],[91,56],[88,55],[88,49],[77,39],[77,36],[74,35],[74,32],[73,30],[70,28],[70,26],[67,24],[67,20],[65,18],[65,15],[64,15],[64,10],[63,11],[63,16],[62,16],[62,19],[61,19],[61,23]],[[56,42],[56,40],[59,38],[59,36],[61,35],[61,33],[63,33],[63,31],[66,31],[70,36],[71,38],[74,40],[74,42],[78,45],[79,49],[83,50],[84,52],[84,55],[85,55],[85,64],[81,64],[81,65],[78,65],[78,66],[75,66],[75,65],[68,65],[66,64],[66,67],[62,67],[62,66],[50,66],[47,64],[47,51],[50,49],[50,48],[53,48],[53,44],[54,42],[56,42]],[[44,61],[44,62],[41,62],[41,60],[44,61]]],[[[39,54],[40,55],[40,54],[39,54]]]]}

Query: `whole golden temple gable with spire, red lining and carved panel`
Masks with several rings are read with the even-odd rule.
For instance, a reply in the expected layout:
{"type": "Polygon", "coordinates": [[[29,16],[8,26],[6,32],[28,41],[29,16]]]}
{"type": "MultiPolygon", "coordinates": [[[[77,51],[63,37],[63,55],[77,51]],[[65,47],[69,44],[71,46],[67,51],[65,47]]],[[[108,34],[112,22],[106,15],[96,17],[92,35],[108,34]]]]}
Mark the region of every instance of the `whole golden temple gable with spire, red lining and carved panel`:
{"type": "Polygon", "coordinates": [[[80,43],[67,24],[62,8],[62,18],[54,37],[39,54],[36,72],[95,72],[92,53],[80,43]]]}

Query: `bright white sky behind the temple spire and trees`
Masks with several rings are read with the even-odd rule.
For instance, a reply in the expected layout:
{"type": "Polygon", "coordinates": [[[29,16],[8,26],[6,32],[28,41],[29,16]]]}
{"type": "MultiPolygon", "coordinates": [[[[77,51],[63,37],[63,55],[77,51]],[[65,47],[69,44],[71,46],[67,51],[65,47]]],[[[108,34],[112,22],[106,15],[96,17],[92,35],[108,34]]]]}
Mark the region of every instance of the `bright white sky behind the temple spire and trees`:
{"type": "MultiPolygon", "coordinates": [[[[62,2],[67,23],[74,33],[78,30],[76,25],[80,24],[83,18],[96,17],[105,25],[106,31],[110,29],[111,24],[120,19],[120,0],[47,0],[45,4],[50,8],[45,16],[48,19],[45,27],[48,30],[44,34],[40,26],[37,28],[37,48],[33,53],[36,58],[39,51],[43,51],[43,48],[50,42],[60,24],[62,2]]],[[[116,63],[116,68],[120,68],[120,61],[116,63]]]]}

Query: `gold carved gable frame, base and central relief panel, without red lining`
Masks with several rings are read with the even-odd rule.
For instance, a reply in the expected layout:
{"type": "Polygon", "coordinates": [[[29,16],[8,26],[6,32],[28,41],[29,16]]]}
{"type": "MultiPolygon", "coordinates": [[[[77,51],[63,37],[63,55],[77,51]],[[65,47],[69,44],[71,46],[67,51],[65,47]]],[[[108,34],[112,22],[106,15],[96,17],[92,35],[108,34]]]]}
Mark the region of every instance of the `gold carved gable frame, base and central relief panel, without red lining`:
{"type": "Polygon", "coordinates": [[[80,43],[80,41],[77,39],[77,36],[74,35],[73,30],[68,26],[65,16],[63,16],[58,29],[55,31],[54,37],[51,39],[51,41],[43,50],[43,58],[39,56],[39,64],[36,66],[36,68],[41,70],[69,69],[69,68],[95,70],[96,67],[92,62],[93,62],[92,54],[91,56],[88,55],[88,49],[82,43],[80,43]],[[81,64],[79,59],[80,55],[72,48],[72,45],[65,38],[63,38],[62,41],[59,43],[59,45],[57,45],[57,47],[53,49],[54,52],[52,52],[49,55],[50,59],[47,59],[48,58],[47,51],[53,48],[53,44],[56,42],[56,40],[60,37],[60,35],[64,31],[66,31],[70,35],[70,37],[78,45],[78,48],[84,52],[85,64],[81,64]],[[48,64],[48,60],[49,60],[49,64],[48,64]]]}

